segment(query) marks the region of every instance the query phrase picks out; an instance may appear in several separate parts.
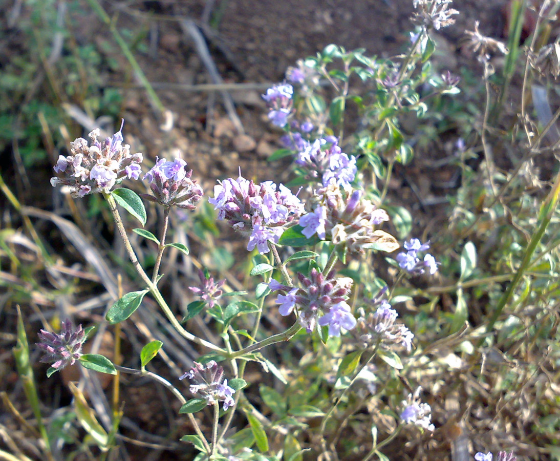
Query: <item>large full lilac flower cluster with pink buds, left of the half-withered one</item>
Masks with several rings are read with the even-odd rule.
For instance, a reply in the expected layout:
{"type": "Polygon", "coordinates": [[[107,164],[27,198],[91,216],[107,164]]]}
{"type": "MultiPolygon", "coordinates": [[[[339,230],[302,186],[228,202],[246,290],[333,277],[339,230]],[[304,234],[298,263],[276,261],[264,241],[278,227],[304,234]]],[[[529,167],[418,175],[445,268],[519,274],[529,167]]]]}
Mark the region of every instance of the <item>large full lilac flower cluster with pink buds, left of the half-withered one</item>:
{"type": "Polygon", "coordinates": [[[256,185],[242,176],[215,185],[214,198],[208,202],[218,210],[218,219],[249,235],[249,251],[256,246],[260,253],[268,253],[268,243],[278,243],[283,226],[304,211],[300,199],[283,184],[265,181],[256,185]]]}

